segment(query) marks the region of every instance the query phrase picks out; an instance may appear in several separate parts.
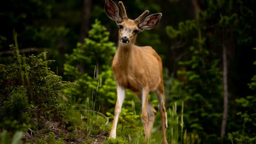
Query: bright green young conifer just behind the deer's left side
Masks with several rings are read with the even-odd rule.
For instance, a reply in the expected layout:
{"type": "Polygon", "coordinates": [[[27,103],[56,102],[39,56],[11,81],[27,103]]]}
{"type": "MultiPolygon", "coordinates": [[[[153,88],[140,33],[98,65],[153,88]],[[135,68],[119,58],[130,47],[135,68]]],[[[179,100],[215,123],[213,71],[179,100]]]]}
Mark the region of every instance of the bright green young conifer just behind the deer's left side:
{"type": "Polygon", "coordinates": [[[98,107],[100,100],[93,97],[97,96],[98,89],[100,96],[101,93],[104,93],[105,98],[115,96],[113,91],[116,91],[116,83],[109,64],[116,48],[113,42],[108,41],[109,32],[106,30],[105,26],[100,25],[100,21],[95,20],[84,44],[78,43],[78,48],[73,49],[72,54],[66,54],[67,62],[64,64],[64,74],[79,84],[71,90],[64,90],[65,93],[72,94],[73,102],[83,103],[87,98],[92,97],[89,98],[90,103],[94,102],[98,107]],[[96,75],[99,74],[98,77],[95,77],[95,72],[96,75]]]}

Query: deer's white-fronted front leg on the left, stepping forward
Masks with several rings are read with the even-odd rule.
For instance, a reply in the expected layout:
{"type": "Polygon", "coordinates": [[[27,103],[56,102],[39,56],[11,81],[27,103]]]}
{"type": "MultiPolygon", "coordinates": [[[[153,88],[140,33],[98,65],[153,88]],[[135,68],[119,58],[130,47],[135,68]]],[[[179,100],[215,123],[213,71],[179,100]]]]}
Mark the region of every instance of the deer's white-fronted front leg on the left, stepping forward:
{"type": "Polygon", "coordinates": [[[116,107],[115,107],[115,117],[113,121],[113,126],[109,134],[109,138],[114,138],[114,139],[116,138],[116,126],[117,126],[118,117],[121,113],[122,105],[124,102],[125,88],[123,86],[118,85],[116,92],[117,92],[117,100],[116,100],[116,107]]]}

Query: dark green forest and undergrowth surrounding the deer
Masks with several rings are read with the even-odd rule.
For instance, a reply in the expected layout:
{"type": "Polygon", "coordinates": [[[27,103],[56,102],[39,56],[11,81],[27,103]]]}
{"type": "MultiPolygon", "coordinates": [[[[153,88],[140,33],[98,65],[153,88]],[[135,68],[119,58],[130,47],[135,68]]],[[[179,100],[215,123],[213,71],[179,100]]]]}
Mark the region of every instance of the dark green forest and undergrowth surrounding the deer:
{"type": "MultiPolygon", "coordinates": [[[[256,143],[255,1],[123,3],[131,19],[145,10],[163,14],[154,29],[138,34],[136,45],[152,46],[163,61],[168,143],[256,143]]],[[[118,26],[104,5],[104,0],[1,2],[2,143],[14,136],[27,143],[107,139],[112,124],[105,121],[112,122],[116,102],[111,62],[118,26]],[[62,127],[60,133],[50,122],[62,127]]],[[[155,94],[149,99],[157,109],[155,94]]],[[[130,135],[134,129],[143,139],[141,105],[130,91],[123,107],[121,138],[105,143],[137,143],[137,135],[130,135]]],[[[159,143],[159,124],[158,113],[152,143],[159,143]]]]}

